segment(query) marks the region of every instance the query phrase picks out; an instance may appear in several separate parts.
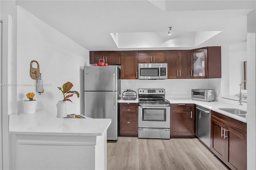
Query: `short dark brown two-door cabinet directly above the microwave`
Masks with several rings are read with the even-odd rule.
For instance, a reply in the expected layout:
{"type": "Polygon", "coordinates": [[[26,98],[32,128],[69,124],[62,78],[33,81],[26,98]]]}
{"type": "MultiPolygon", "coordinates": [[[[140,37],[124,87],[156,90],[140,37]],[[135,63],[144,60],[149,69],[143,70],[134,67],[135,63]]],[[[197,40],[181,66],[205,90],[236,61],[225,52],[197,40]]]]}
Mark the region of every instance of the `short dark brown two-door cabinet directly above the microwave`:
{"type": "Polygon", "coordinates": [[[138,63],[167,63],[166,50],[138,51],[138,63]]]}

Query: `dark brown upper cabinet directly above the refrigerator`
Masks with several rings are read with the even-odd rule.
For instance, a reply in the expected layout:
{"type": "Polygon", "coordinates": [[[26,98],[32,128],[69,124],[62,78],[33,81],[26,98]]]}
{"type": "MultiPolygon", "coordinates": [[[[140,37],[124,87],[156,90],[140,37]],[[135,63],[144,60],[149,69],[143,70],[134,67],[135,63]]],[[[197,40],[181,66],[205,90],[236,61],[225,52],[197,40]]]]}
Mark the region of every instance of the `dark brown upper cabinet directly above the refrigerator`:
{"type": "Polygon", "coordinates": [[[99,59],[108,65],[120,65],[120,51],[90,51],[90,64],[99,62],[99,59]]]}

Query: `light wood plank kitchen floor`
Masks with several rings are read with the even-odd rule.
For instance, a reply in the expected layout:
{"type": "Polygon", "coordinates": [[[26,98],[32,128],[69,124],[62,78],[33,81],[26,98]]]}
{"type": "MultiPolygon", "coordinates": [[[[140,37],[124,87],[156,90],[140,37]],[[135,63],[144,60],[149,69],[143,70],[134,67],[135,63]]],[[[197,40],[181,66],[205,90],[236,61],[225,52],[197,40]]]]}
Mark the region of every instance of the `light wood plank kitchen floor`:
{"type": "Polygon", "coordinates": [[[196,138],[119,137],[107,143],[108,170],[228,170],[196,138]]]}

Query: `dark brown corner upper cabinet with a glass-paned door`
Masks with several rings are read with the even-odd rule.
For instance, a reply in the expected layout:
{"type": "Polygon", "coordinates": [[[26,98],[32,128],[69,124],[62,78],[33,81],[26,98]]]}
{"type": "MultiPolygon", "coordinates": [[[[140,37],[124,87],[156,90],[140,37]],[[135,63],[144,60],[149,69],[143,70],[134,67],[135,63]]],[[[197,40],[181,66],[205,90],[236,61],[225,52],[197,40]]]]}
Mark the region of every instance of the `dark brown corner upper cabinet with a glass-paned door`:
{"type": "Polygon", "coordinates": [[[191,50],[191,78],[221,78],[221,47],[191,50]]]}

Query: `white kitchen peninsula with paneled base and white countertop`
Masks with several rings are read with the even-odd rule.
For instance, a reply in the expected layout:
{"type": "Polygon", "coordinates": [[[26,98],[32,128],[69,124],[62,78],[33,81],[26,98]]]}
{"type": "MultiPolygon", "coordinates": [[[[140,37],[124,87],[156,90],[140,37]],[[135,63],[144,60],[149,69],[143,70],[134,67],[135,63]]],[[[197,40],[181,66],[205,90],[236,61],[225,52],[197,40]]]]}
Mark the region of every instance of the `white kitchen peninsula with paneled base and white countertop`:
{"type": "Polygon", "coordinates": [[[12,169],[106,169],[111,119],[57,118],[39,111],[10,114],[12,169]]]}

